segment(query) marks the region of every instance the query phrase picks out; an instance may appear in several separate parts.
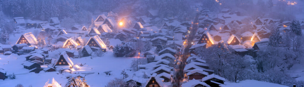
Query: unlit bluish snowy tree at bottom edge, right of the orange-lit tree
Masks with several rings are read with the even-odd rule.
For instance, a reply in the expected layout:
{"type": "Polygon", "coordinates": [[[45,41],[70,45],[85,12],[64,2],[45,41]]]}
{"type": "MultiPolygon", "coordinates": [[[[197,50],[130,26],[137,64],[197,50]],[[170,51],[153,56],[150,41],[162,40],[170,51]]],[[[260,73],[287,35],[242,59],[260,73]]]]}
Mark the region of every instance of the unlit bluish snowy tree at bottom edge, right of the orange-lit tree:
{"type": "Polygon", "coordinates": [[[123,79],[115,78],[107,83],[105,87],[125,87],[127,83],[123,79]]]}

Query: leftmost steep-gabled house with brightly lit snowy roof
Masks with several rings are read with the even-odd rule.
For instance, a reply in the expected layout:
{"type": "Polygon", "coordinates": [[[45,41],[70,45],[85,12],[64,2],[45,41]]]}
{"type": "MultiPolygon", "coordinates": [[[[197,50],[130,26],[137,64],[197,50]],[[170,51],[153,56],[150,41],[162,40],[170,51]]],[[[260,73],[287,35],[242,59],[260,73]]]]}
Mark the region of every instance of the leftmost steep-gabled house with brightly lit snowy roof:
{"type": "Polygon", "coordinates": [[[37,45],[38,41],[36,37],[32,34],[32,32],[30,32],[30,33],[22,34],[20,36],[16,44],[21,44],[21,43],[26,43],[27,45],[32,46],[32,45],[37,45]]]}

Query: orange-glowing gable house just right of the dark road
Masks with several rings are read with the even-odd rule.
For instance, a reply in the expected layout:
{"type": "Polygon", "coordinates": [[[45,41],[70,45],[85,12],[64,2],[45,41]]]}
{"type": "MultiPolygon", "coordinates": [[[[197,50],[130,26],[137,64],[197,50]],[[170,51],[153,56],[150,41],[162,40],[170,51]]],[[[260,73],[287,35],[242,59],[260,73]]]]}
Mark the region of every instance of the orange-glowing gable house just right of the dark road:
{"type": "Polygon", "coordinates": [[[215,41],[213,40],[212,36],[209,34],[208,31],[205,31],[202,36],[199,39],[199,42],[197,44],[201,44],[201,43],[207,43],[207,47],[215,44],[215,41]]]}

